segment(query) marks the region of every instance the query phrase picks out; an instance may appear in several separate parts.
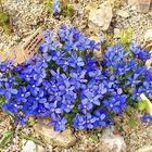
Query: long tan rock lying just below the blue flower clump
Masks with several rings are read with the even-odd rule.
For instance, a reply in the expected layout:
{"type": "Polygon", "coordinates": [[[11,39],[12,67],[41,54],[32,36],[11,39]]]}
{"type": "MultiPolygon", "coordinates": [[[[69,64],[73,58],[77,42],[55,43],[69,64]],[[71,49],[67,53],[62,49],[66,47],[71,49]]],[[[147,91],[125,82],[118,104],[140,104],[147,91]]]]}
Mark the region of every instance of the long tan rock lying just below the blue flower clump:
{"type": "Polygon", "coordinates": [[[67,149],[76,142],[76,137],[72,135],[69,129],[66,129],[63,132],[56,132],[52,127],[40,123],[36,124],[34,129],[48,144],[53,147],[67,149]]]}

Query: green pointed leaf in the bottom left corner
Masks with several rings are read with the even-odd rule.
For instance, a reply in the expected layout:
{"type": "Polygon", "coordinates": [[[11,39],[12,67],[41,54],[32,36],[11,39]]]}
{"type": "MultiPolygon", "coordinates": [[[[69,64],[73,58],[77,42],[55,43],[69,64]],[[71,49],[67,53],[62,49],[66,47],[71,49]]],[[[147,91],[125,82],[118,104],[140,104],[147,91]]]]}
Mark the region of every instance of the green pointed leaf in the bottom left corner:
{"type": "Polygon", "coordinates": [[[2,139],[0,140],[0,148],[4,148],[8,143],[11,142],[14,131],[7,131],[2,139]]]}

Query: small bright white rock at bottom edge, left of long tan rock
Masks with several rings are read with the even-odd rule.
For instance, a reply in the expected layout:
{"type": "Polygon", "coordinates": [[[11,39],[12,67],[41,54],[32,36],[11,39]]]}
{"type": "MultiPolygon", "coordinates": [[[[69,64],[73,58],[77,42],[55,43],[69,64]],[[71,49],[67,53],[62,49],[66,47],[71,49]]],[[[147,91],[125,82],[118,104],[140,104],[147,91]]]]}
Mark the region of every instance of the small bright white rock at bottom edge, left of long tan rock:
{"type": "Polygon", "coordinates": [[[21,152],[37,152],[37,145],[35,142],[27,140],[21,152]]]}

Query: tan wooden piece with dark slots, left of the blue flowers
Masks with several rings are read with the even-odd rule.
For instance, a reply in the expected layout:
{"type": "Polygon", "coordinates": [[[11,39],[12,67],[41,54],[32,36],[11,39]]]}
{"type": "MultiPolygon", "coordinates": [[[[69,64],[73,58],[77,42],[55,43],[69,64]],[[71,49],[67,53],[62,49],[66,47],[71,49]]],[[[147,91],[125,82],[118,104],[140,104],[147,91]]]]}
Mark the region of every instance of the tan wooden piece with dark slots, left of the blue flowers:
{"type": "Polygon", "coordinates": [[[43,31],[39,27],[26,41],[17,47],[13,47],[8,51],[0,52],[0,62],[12,60],[16,64],[22,64],[29,60],[34,54],[38,53],[40,43],[45,40],[43,31]]]}

